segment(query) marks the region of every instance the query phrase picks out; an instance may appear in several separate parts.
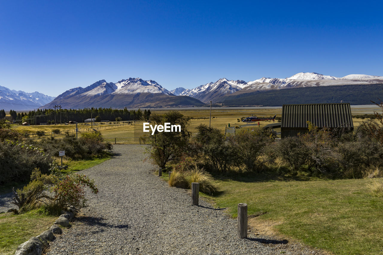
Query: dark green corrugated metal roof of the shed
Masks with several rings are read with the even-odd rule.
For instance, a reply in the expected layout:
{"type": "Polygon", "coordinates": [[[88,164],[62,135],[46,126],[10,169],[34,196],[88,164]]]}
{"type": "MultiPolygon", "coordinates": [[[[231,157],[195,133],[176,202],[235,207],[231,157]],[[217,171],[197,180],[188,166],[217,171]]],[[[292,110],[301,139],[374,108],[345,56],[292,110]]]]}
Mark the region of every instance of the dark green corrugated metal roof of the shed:
{"type": "Polygon", "coordinates": [[[282,106],[282,128],[307,128],[307,121],[319,128],[354,128],[348,103],[285,104],[282,106]]]}

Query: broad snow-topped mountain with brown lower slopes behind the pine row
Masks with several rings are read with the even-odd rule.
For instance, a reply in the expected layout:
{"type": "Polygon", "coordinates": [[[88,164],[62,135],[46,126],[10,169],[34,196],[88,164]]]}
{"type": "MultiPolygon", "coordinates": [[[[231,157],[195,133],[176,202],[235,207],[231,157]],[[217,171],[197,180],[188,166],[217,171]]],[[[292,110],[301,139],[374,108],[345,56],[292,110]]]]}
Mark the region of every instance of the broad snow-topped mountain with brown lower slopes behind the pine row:
{"type": "Polygon", "coordinates": [[[153,80],[129,78],[117,83],[100,80],[85,88],[69,89],[41,108],[52,108],[56,104],[64,108],[123,108],[201,106],[203,102],[191,97],[177,97],[153,80]]]}

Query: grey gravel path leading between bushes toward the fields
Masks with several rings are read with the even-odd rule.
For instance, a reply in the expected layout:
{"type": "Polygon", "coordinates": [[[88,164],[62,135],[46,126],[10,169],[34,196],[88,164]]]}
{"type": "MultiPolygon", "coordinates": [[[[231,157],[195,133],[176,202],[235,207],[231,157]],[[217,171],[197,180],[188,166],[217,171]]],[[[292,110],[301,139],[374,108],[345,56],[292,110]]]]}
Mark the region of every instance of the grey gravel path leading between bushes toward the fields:
{"type": "Polygon", "coordinates": [[[141,145],[114,145],[112,159],[81,174],[100,192],[73,226],[57,236],[56,254],[320,254],[249,233],[237,239],[236,219],[205,201],[192,206],[188,190],[171,188],[143,162],[141,145]]]}

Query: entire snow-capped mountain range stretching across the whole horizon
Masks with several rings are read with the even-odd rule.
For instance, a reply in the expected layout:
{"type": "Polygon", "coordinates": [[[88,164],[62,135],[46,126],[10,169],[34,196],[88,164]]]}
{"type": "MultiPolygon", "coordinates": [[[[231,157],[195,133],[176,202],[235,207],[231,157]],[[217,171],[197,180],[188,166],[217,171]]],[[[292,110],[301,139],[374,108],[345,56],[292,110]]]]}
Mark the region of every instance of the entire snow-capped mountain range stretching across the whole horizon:
{"type": "MultiPolygon", "coordinates": [[[[77,87],[69,89],[56,98],[38,92],[25,93],[0,86],[0,109],[27,110],[37,107],[52,108],[55,105],[72,109],[84,107],[193,107],[203,106],[210,101],[223,106],[228,104],[231,106],[250,106],[260,105],[256,100],[256,97],[259,97],[259,92],[267,92],[268,97],[271,96],[272,98],[272,95],[275,94],[277,90],[283,89],[283,92],[281,91],[282,93],[277,93],[279,98],[282,98],[283,95],[287,97],[288,94],[291,94],[287,93],[284,89],[373,84],[383,84],[383,76],[347,75],[339,78],[319,73],[297,73],[288,78],[262,77],[249,82],[221,78],[216,82],[206,83],[194,89],[180,87],[172,91],[168,91],[153,80],[129,78],[116,83],[100,80],[85,88],[77,87]],[[246,98],[246,100],[241,101],[241,98],[246,98]]],[[[341,98],[342,93],[346,93],[347,86],[339,90],[340,94],[337,98],[341,98]]],[[[371,90],[369,86],[357,88],[363,88],[367,91],[371,90]]],[[[322,93],[324,90],[323,88],[320,89],[321,90],[315,91],[322,93]]],[[[376,93],[376,89],[374,91],[374,93],[376,93]]],[[[351,93],[350,95],[353,96],[355,91],[350,90],[347,93],[351,93]]],[[[293,94],[295,96],[297,95],[296,93],[293,94]]],[[[265,97],[266,94],[262,95],[265,97]]],[[[358,94],[355,94],[355,96],[357,97],[358,94]]],[[[365,94],[365,96],[367,98],[368,93],[365,94]]],[[[329,100],[331,101],[331,99],[329,100]]],[[[297,101],[297,103],[299,102],[297,101]]]]}

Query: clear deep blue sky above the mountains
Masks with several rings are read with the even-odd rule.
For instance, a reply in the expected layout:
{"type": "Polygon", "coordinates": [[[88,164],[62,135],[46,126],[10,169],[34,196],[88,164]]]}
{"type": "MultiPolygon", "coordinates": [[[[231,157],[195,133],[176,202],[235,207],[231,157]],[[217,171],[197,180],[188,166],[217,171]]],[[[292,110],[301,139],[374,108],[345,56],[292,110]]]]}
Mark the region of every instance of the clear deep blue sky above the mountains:
{"type": "Polygon", "coordinates": [[[380,1],[3,1],[0,85],[57,96],[105,79],[171,90],[298,72],[383,76],[380,1]]]}

